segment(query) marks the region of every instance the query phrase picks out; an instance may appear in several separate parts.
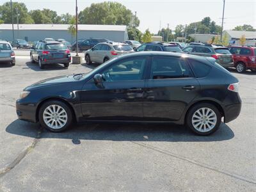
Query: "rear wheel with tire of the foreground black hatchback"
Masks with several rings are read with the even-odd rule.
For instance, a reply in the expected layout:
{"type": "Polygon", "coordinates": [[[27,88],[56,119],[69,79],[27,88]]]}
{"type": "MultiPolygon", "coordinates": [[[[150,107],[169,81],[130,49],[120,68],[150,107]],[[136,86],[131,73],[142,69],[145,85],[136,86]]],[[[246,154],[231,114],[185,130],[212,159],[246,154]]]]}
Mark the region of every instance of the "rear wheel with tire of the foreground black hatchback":
{"type": "Polygon", "coordinates": [[[215,132],[221,123],[220,111],[208,103],[197,104],[190,109],[187,116],[188,127],[200,135],[209,135],[215,132]]]}

